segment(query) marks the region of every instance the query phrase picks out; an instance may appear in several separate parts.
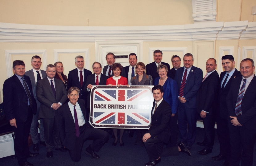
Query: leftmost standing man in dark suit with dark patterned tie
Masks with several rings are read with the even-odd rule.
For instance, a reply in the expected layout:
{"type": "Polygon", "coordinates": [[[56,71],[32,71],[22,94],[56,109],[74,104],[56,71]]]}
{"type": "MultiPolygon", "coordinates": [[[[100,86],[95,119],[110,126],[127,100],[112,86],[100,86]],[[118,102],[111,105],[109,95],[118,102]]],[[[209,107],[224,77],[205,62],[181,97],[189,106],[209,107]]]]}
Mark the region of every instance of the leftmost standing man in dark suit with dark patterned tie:
{"type": "Polygon", "coordinates": [[[37,105],[33,94],[31,81],[25,76],[23,61],[13,61],[14,75],[4,81],[3,105],[6,119],[14,128],[14,151],[20,166],[33,166],[27,162],[27,157],[34,157],[39,153],[31,153],[28,149],[28,136],[33,114],[37,105]]]}

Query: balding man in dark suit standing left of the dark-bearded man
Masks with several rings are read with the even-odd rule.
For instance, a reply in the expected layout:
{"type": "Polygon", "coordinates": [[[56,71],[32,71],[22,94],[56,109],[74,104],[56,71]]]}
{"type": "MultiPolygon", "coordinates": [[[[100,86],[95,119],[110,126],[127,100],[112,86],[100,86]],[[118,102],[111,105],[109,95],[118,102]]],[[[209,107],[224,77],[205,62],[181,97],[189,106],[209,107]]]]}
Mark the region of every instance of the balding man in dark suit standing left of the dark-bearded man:
{"type": "Polygon", "coordinates": [[[216,117],[216,105],[219,96],[220,77],[216,71],[216,60],[210,58],[206,61],[207,73],[203,79],[196,96],[196,109],[203,118],[204,123],[204,149],[197,152],[201,155],[206,155],[212,152],[214,144],[214,125],[216,117]]]}

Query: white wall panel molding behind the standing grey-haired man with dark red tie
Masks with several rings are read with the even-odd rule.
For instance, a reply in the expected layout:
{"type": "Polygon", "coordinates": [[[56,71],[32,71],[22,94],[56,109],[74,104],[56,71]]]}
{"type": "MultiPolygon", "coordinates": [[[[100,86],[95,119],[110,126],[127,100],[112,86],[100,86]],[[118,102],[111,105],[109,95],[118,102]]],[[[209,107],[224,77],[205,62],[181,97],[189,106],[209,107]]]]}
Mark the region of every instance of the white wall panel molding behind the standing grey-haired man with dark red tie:
{"type": "Polygon", "coordinates": [[[53,50],[54,63],[59,61],[59,55],[58,55],[59,53],[84,53],[85,69],[90,70],[89,49],[54,49],[53,50]]]}

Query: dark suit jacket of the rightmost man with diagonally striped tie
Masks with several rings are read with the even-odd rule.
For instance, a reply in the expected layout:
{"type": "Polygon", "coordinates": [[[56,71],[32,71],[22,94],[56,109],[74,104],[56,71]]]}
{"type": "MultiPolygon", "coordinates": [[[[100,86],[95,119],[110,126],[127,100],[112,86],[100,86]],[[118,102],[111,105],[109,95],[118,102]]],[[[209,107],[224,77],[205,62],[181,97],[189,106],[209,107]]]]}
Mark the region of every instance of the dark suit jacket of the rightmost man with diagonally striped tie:
{"type": "MultiPolygon", "coordinates": [[[[235,114],[235,106],[242,76],[233,78],[232,84],[227,95],[227,107],[229,116],[237,117],[235,114]]],[[[254,75],[248,88],[246,89],[242,99],[242,115],[237,117],[237,121],[244,125],[248,130],[256,130],[256,77],[254,75]]],[[[229,118],[231,120],[231,118],[229,118]]],[[[238,126],[239,127],[239,126],[238,126]]]]}

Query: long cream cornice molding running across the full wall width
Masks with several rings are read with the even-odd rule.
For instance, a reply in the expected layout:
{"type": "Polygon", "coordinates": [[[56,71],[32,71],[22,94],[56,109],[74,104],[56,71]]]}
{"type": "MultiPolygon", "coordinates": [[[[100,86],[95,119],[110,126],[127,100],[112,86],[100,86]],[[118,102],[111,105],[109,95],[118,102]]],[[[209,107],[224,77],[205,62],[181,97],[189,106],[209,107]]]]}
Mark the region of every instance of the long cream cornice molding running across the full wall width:
{"type": "Polygon", "coordinates": [[[242,39],[256,39],[256,22],[90,27],[0,22],[0,42],[197,41],[239,39],[240,36],[242,39]]]}

